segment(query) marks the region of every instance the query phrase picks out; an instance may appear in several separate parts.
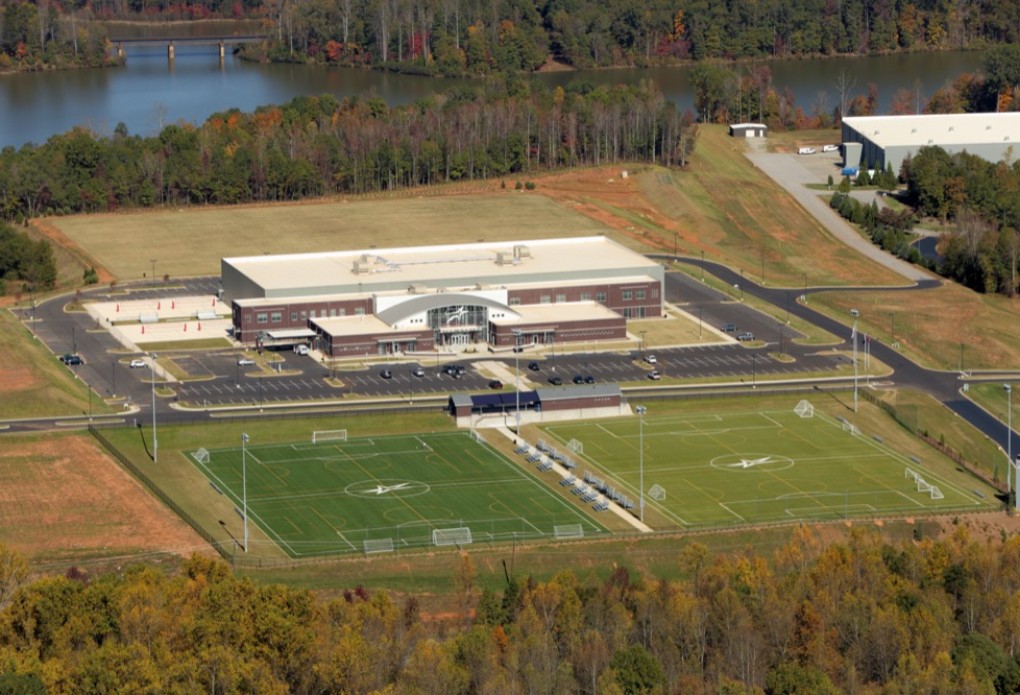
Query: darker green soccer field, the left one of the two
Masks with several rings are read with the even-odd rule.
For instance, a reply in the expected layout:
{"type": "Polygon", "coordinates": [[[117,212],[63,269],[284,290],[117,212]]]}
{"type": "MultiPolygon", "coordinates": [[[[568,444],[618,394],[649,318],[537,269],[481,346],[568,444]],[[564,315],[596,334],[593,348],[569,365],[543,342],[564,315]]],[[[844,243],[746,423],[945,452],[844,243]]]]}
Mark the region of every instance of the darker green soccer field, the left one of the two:
{"type": "Polygon", "coordinates": [[[366,540],[420,547],[435,529],[467,527],[475,543],[551,537],[557,526],[605,531],[467,432],[249,442],[211,449],[207,462],[188,453],[239,510],[246,487],[249,524],[293,557],[361,552],[366,540]]]}

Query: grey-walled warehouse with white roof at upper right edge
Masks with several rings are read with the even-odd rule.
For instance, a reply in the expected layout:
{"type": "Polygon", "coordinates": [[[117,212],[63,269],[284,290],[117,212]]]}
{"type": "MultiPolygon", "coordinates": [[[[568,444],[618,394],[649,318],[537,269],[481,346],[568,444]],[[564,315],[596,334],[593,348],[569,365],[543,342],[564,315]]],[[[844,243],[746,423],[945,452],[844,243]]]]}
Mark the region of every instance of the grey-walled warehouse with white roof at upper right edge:
{"type": "Polygon", "coordinates": [[[1015,159],[1020,112],[853,116],[843,119],[844,167],[899,173],[903,160],[925,146],[968,152],[988,161],[1015,159]]]}

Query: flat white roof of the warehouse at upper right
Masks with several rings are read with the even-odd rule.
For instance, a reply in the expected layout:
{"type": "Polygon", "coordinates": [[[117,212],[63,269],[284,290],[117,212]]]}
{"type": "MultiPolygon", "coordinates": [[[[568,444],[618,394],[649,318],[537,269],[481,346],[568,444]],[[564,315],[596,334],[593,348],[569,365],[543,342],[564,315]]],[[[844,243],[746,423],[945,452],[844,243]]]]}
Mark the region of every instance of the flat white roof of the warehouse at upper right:
{"type": "Polygon", "coordinates": [[[879,147],[1020,142],[1020,111],[851,116],[843,122],[879,147]]]}

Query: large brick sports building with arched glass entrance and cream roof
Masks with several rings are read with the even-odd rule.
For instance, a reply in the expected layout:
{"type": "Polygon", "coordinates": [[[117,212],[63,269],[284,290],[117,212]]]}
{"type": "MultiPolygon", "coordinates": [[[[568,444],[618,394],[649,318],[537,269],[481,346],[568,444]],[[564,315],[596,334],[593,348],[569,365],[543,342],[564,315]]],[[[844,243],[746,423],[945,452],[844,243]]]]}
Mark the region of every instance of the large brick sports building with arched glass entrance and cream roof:
{"type": "Polygon", "coordinates": [[[605,237],[223,258],[245,345],[333,357],[620,340],[664,269],[605,237]]]}

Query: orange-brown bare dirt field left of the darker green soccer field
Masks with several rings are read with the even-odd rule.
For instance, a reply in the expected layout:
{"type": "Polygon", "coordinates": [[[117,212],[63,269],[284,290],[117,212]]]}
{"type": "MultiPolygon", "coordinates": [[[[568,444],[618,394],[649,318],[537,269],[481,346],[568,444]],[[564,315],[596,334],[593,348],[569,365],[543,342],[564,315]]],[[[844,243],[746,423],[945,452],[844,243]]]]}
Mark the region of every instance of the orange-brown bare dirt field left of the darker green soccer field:
{"type": "Polygon", "coordinates": [[[88,435],[7,439],[0,449],[0,542],[34,560],[208,545],[88,435]]]}

